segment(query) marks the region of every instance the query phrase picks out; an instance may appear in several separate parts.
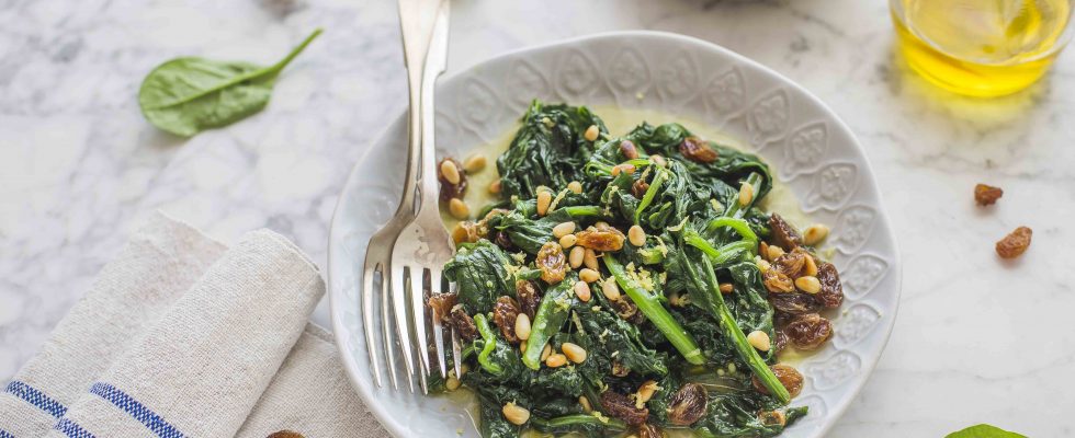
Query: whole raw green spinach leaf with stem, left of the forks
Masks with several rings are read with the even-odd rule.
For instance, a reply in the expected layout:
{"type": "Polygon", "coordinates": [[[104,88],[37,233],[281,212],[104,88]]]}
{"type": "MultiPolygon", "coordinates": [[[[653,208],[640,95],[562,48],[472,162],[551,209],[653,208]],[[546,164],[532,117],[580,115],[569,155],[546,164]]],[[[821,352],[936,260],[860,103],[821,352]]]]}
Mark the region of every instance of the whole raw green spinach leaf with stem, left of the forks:
{"type": "Polygon", "coordinates": [[[314,31],[284,59],[268,67],[193,57],[161,64],[138,90],[142,114],[154,126],[182,137],[250,116],[269,103],[280,71],[320,33],[320,28],[314,31]]]}

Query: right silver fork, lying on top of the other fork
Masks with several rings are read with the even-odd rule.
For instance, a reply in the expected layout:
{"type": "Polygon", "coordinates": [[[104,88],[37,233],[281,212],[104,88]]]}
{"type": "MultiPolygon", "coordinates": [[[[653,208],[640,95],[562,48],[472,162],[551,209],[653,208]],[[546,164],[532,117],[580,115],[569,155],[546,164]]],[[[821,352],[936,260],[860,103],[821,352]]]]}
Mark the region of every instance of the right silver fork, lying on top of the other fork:
{"type": "MultiPolygon", "coordinates": [[[[406,0],[404,0],[406,1],[406,0]]],[[[434,145],[433,89],[437,77],[448,64],[448,16],[450,0],[443,0],[437,12],[435,26],[426,57],[426,73],[421,92],[421,142],[411,142],[411,154],[420,147],[421,171],[418,181],[419,205],[415,219],[400,231],[392,249],[392,269],[388,287],[392,289],[396,328],[400,339],[408,338],[409,316],[414,328],[414,343],[403,346],[404,364],[408,380],[414,381],[415,362],[411,351],[417,350],[422,393],[428,392],[426,376],[431,372],[427,322],[432,325],[433,347],[437,350],[441,376],[446,374],[444,339],[438,315],[430,318],[426,300],[432,293],[444,292],[442,267],[455,253],[455,244],[441,222],[438,204],[437,152],[434,145]],[[409,302],[408,302],[409,301],[409,302]]],[[[414,384],[414,383],[411,383],[414,384]]]]}

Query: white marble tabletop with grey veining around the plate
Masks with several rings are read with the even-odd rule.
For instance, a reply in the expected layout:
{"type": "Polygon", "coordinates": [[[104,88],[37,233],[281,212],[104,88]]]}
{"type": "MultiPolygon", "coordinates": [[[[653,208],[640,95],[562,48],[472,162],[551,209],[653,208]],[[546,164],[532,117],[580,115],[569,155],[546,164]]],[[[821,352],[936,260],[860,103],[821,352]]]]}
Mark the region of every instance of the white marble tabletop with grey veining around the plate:
{"type": "MultiPolygon", "coordinates": [[[[405,105],[386,0],[0,0],[0,381],[152,209],[234,240],[269,227],[324,262],[351,163],[405,105]],[[269,62],[326,28],[269,108],[182,140],[138,113],[178,55],[269,62]]],[[[456,0],[449,73],[505,50],[649,28],[722,44],[827,102],[867,148],[904,255],[884,357],[835,437],[927,437],[988,422],[1075,435],[1075,55],[1029,91],[972,101],[893,55],[881,0],[456,0]],[[1005,188],[973,206],[976,182],[1005,188]],[[1034,229],[1003,263],[993,243],[1034,229]]],[[[326,324],[322,303],[315,320],[326,324]]]]}

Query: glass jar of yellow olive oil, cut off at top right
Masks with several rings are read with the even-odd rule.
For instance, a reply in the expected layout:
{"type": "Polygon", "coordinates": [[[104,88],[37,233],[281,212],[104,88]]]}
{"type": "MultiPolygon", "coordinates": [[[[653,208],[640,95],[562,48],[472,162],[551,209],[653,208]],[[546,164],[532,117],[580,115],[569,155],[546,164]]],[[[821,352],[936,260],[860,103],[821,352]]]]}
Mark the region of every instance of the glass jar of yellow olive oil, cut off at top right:
{"type": "Polygon", "coordinates": [[[947,90],[997,96],[1041,78],[1071,37],[1073,0],[891,0],[899,51],[947,90]]]}

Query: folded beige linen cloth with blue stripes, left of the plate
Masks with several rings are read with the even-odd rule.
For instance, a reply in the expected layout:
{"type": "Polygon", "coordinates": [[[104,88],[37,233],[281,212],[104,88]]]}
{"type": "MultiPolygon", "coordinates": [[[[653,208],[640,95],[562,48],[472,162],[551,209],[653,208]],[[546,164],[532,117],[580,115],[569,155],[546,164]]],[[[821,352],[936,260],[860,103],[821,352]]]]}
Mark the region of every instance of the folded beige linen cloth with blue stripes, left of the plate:
{"type": "Polygon", "coordinates": [[[0,438],[387,436],[307,323],[324,290],[279,234],[156,215],[5,385],[0,438]]]}

